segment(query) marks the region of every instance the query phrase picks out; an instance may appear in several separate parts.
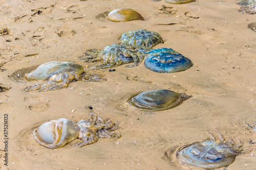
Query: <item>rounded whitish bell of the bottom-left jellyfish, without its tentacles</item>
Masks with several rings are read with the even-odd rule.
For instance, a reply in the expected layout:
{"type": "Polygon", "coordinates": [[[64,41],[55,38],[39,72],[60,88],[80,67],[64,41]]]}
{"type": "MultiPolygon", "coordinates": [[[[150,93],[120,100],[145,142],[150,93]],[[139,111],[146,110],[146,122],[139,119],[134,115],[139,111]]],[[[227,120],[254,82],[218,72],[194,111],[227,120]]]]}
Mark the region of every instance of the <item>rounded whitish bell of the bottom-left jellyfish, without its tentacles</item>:
{"type": "Polygon", "coordinates": [[[40,145],[56,149],[77,138],[78,127],[72,120],[59,118],[39,126],[33,131],[33,136],[40,145]]]}

